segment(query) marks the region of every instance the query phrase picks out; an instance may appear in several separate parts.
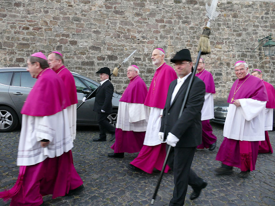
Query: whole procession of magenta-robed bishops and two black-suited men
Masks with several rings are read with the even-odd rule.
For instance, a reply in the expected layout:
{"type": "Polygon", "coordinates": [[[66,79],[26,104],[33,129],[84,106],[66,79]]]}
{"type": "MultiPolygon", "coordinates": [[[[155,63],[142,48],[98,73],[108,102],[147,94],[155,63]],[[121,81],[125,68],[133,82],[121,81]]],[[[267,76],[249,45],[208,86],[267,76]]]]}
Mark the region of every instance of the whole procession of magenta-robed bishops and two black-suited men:
{"type": "MultiPolygon", "coordinates": [[[[151,61],[156,70],[149,90],[139,76],[139,67],[130,65],[127,68],[129,84],[119,101],[115,128],[106,126],[106,118],[112,110],[106,106],[112,105],[112,98],[107,98],[107,94],[113,92],[110,69],[103,67],[97,72],[101,85],[95,92],[98,105],[94,110],[98,112],[101,123],[100,136],[93,141],[106,141],[105,130],[110,131],[115,142],[111,146],[113,152],[107,156],[124,158],[125,152],[139,152],[126,167],[133,172],[150,174],[154,169],[162,170],[166,151],[171,145],[174,159],[164,168],[165,173],[170,169],[174,172],[175,188],[169,205],[183,205],[187,185],[193,188],[191,200],[198,198],[207,186],[207,182],[198,177],[190,166],[196,149],[213,151],[216,147],[217,137],[212,133],[209,121],[214,118],[215,83],[212,74],[204,68],[206,62],[199,58],[193,80],[194,89],[190,90],[182,118],[173,119],[170,116],[178,115],[175,105],[182,103],[181,95],[185,94],[193,72],[190,52],[183,49],[176,53],[171,59],[175,68],[165,62],[162,48],[152,51],[151,61]],[[199,140],[192,139],[190,135],[199,136],[199,140]],[[193,144],[183,143],[185,141],[193,144]],[[193,155],[179,156],[185,155],[185,152],[193,155]]],[[[45,195],[52,194],[52,198],[56,198],[84,190],[71,152],[76,137],[78,103],[74,78],[64,66],[62,54],[57,51],[47,57],[41,52],[32,54],[27,58],[27,65],[27,71],[37,81],[21,110],[22,127],[17,157],[19,175],[13,188],[0,192],[0,198],[5,201],[12,199],[11,205],[41,205],[45,195]]],[[[258,153],[273,152],[268,130],[272,130],[275,90],[263,80],[261,70],[249,71],[244,61],[237,61],[232,66],[233,72],[237,79],[227,100],[229,108],[224,139],[216,156],[216,160],[221,161],[221,167],[215,172],[232,174],[233,167],[237,167],[241,170],[238,176],[247,178],[255,170],[258,153]]],[[[87,99],[85,96],[83,101],[87,99]]]]}

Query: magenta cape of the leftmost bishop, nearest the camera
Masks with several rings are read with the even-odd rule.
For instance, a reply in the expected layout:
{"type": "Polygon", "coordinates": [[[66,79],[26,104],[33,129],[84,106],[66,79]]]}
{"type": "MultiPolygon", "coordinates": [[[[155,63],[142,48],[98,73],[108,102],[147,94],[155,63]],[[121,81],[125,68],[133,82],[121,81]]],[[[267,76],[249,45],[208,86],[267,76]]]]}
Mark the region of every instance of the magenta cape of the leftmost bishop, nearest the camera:
{"type": "Polygon", "coordinates": [[[63,81],[53,70],[43,70],[26,98],[21,114],[49,116],[70,106],[68,95],[62,88],[63,81]]]}

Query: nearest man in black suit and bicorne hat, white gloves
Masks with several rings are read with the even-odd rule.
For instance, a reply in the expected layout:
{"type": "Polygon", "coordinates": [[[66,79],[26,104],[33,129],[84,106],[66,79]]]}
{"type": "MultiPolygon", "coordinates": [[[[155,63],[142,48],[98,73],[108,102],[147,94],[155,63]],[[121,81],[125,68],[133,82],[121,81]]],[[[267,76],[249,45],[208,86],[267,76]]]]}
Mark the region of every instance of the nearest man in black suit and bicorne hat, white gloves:
{"type": "MultiPolygon", "coordinates": [[[[176,53],[171,62],[175,63],[178,79],[171,82],[163,109],[160,139],[167,136],[171,151],[167,163],[174,172],[174,193],[169,206],[182,206],[188,184],[193,193],[190,199],[196,199],[207,182],[190,169],[196,147],[201,144],[201,108],[204,103],[205,85],[194,77],[181,117],[178,119],[182,102],[192,75],[193,63],[188,49],[176,53]]],[[[167,145],[168,148],[168,145],[167,145]]]]}

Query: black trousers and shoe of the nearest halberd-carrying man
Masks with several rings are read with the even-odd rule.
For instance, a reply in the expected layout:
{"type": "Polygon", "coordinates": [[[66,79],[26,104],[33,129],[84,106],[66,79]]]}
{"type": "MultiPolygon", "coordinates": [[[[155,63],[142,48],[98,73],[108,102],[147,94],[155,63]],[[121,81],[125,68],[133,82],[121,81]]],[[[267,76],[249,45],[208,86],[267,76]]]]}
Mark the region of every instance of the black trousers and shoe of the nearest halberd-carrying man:
{"type": "MultiPolygon", "coordinates": [[[[166,145],[168,149],[169,145],[166,145]]],[[[174,192],[169,206],[182,206],[185,202],[187,187],[193,189],[202,185],[202,180],[190,169],[196,147],[171,147],[167,163],[174,172],[174,192]]]]}

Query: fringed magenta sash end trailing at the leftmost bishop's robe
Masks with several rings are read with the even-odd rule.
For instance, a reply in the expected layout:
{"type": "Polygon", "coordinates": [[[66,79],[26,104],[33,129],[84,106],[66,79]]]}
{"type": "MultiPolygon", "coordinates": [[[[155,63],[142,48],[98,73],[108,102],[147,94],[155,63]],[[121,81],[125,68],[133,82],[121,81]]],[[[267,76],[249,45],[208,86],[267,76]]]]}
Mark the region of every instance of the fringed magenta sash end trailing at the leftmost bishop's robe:
{"type": "Polygon", "coordinates": [[[15,185],[10,190],[5,190],[3,192],[0,192],[0,198],[2,198],[4,202],[7,202],[9,199],[11,199],[14,195],[18,193],[24,181],[25,171],[26,171],[26,166],[20,166],[19,175],[15,185]]]}

